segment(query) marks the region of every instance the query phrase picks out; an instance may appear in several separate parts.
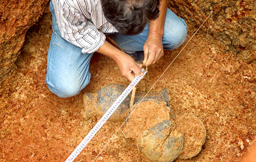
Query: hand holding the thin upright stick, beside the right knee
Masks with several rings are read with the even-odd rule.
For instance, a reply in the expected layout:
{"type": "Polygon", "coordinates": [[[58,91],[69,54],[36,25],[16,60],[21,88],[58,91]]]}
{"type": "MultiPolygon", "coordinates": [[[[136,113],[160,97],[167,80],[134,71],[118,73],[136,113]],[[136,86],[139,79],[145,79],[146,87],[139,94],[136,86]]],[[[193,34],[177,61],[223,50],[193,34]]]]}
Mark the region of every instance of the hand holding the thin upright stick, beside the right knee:
{"type": "Polygon", "coordinates": [[[162,43],[162,36],[159,34],[149,34],[144,46],[144,61],[143,65],[151,65],[156,63],[162,56],[164,56],[164,47],[162,43]],[[147,61],[147,53],[150,51],[147,61]]]}

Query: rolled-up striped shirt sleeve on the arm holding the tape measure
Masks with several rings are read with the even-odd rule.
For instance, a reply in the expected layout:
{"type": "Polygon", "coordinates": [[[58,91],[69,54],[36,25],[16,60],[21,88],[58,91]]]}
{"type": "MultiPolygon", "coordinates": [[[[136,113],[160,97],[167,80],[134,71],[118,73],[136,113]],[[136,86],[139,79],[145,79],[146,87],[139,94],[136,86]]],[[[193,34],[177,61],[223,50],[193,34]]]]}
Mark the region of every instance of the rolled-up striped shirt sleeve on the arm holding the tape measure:
{"type": "Polygon", "coordinates": [[[65,40],[81,47],[82,53],[93,53],[104,44],[106,36],[70,2],[59,0],[53,5],[61,36],[65,40]]]}

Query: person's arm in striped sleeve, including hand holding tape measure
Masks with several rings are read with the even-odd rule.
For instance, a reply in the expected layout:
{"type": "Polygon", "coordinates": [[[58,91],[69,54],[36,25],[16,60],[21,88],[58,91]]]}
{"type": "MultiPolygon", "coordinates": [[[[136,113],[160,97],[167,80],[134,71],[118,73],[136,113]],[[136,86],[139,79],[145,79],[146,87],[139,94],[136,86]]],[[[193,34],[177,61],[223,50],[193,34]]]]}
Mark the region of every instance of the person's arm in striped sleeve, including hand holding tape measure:
{"type": "MultiPolygon", "coordinates": [[[[98,31],[95,25],[86,18],[90,18],[90,13],[83,11],[82,14],[82,11],[74,7],[77,5],[74,5],[72,1],[66,3],[55,0],[52,2],[55,8],[58,27],[64,39],[81,47],[82,53],[97,51],[114,59],[121,75],[130,81],[133,80],[134,74],[143,75],[141,72],[142,65],[136,64],[129,55],[105,41],[105,35],[98,31]]],[[[91,7],[88,4],[86,6],[91,7]]]]}

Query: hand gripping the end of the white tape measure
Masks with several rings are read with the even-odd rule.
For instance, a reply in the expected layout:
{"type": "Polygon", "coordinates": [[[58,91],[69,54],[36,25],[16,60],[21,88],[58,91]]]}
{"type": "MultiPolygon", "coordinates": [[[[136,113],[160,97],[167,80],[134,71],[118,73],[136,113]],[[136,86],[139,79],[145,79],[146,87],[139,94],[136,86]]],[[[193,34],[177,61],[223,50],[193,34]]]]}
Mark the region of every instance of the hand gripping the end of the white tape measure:
{"type": "Polygon", "coordinates": [[[142,64],[135,63],[132,57],[126,53],[120,53],[114,60],[117,63],[120,74],[127,78],[129,81],[133,81],[136,75],[142,76],[142,64]]]}

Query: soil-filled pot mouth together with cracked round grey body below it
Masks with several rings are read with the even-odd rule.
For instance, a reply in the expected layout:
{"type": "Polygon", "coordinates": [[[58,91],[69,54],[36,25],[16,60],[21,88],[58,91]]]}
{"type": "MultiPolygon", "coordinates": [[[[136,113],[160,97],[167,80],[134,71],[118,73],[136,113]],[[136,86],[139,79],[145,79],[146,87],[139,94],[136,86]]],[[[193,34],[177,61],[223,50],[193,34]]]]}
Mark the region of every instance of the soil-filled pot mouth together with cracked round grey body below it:
{"type": "Polygon", "coordinates": [[[138,142],[139,151],[148,160],[173,161],[182,151],[183,135],[173,131],[170,110],[164,102],[145,99],[127,120],[123,132],[138,142]]]}

